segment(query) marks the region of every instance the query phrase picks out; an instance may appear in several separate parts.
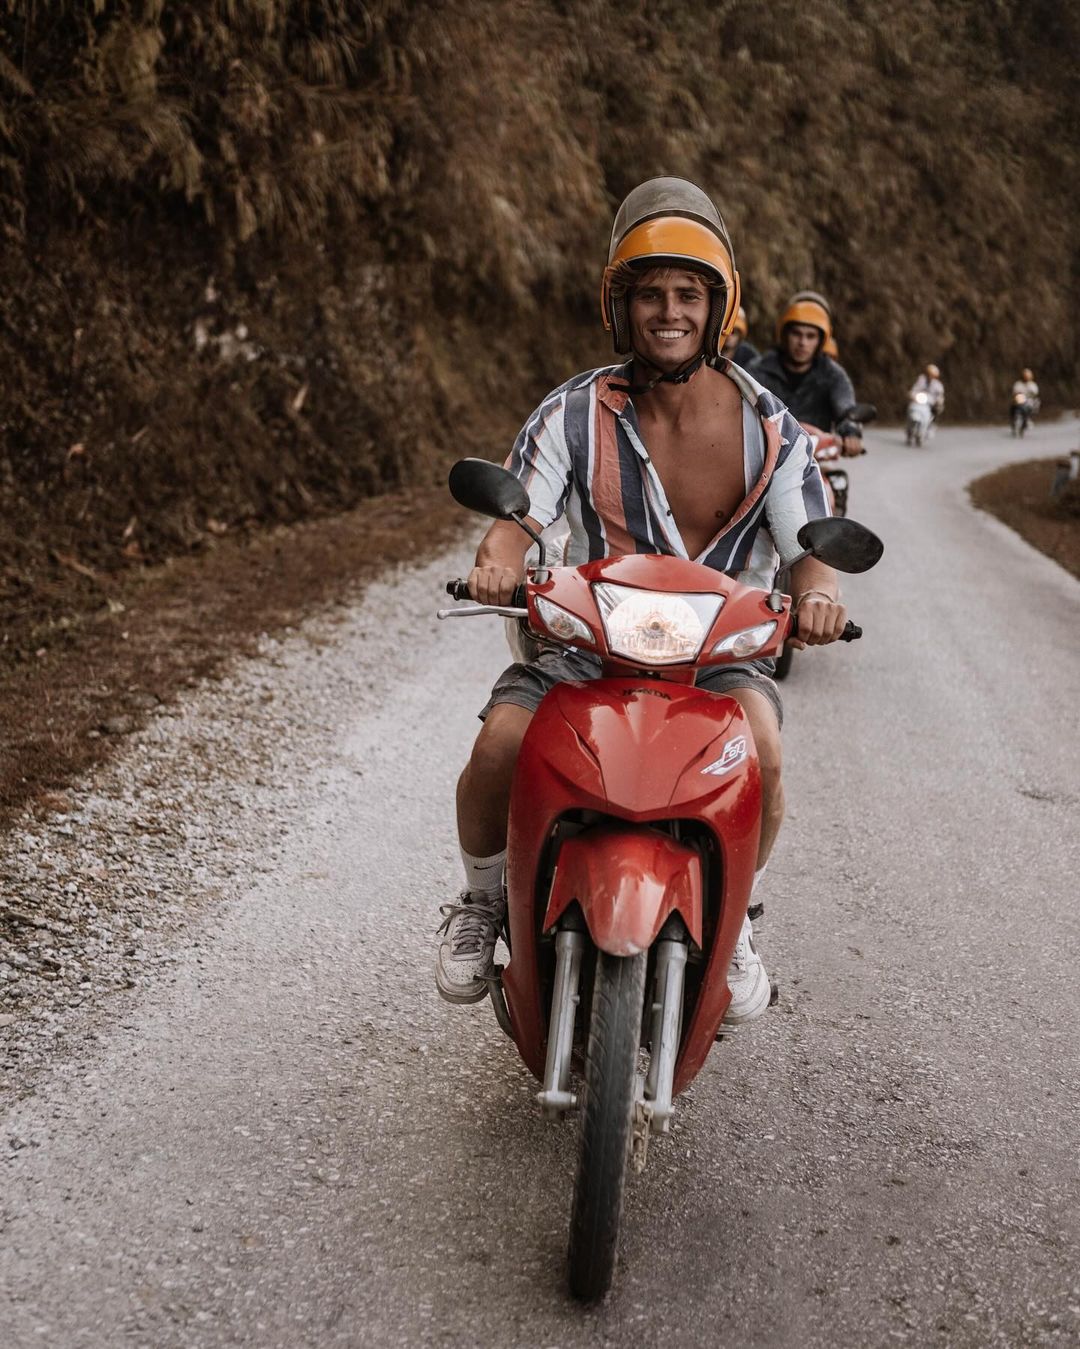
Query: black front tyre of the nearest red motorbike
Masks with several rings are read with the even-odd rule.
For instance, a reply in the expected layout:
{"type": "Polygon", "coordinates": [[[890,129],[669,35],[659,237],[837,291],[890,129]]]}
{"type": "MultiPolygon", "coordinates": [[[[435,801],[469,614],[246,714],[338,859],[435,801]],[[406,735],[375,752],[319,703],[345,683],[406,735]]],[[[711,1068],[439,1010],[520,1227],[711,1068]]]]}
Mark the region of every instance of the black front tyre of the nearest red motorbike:
{"type": "Polygon", "coordinates": [[[570,1214],[569,1273],[576,1298],[603,1298],[615,1272],[634,1122],[647,952],[596,952],[585,1103],[570,1214]]]}

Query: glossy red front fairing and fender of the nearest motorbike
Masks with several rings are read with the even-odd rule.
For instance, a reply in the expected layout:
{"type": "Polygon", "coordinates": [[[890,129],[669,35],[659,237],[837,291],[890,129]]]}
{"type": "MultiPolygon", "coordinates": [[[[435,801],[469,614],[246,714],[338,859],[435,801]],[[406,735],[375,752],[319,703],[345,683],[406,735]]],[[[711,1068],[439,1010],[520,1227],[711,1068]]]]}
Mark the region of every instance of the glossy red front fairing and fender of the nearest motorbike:
{"type": "Polygon", "coordinates": [[[671,912],[704,947],[676,1068],[676,1090],[686,1086],[728,1004],[727,969],[752,886],[759,822],[754,739],[733,699],[638,676],[551,689],[514,778],[512,959],[503,974],[514,1036],[537,1077],[546,1041],[538,939],[576,901],[601,950],[651,944],[671,912]],[[568,819],[577,831],[564,866],[549,844],[568,819]],[[705,866],[694,831],[708,840],[705,866]]]}

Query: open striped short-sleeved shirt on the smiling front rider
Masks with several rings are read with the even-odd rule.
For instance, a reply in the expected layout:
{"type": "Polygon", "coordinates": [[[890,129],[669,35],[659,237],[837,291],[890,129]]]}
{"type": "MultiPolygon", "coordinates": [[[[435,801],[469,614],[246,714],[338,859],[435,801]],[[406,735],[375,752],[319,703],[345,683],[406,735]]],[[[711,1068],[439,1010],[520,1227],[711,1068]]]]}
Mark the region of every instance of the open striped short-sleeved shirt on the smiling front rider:
{"type": "MultiPolygon", "coordinates": [[[[825,488],[809,437],[783,403],[729,360],[715,364],[743,398],[746,496],[693,561],[769,590],[778,563],[801,552],[800,527],[829,514],[825,488]]],[[[628,364],[576,375],[543,399],[507,460],[533,519],[547,526],[566,517],[568,567],[624,553],[689,557],[634,405],[612,387],[628,379],[628,364]]]]}

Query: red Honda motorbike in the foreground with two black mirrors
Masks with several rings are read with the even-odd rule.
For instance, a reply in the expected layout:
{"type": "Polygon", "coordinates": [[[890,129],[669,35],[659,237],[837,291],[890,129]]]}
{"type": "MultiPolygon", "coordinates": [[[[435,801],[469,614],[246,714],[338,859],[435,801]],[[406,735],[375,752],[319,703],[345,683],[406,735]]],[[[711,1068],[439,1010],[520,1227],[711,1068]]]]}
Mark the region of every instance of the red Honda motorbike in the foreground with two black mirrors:
{"type": "MultiPolygon", "coordinates": [[[[542,645],[591,652],[603,666],[600,679],[553,688],[522,743],[507,844],[510,963],[489,985],[500,1025],[542,1083],[545,1116],[580,1106],[569,1282],[595,1299],[611,1286],[627,1163],[644,1166],[650,1136],[667,1133],[676,1095],[720,1032],[754,881],[754,737],[742,707],[694,688],[694,674],[778,652],[791,602],[676,557],[547,568],[512,473],[467,459],[450,491],[516,521],[541,552],[514,604],[438,616],[520,618],[542,645]]],[[[800,544],[801,556],[848,572],[882,553],[847,519],[805,525],[800,544]]],[[[446,588],[468,598],[464,581],[446,588]]],[[[849,623],[847,639],[859,635],[849,623]]]]}

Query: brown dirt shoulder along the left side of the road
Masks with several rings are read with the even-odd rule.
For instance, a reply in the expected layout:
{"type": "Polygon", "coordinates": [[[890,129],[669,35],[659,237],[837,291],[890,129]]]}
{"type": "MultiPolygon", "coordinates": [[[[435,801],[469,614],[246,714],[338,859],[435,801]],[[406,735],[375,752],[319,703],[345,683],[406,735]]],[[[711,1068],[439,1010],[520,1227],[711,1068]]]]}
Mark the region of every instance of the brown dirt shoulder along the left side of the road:
{"type": "Polygon", "coordinates": [[[57,554],[51,615],[9,625],[0,648],[0,828],[27,805],[63,808],[65,785],[179,689],[431,553],[464,521],[440,487],[113,576],[57,554]]]}

